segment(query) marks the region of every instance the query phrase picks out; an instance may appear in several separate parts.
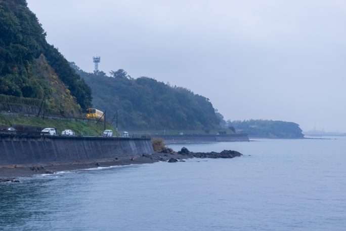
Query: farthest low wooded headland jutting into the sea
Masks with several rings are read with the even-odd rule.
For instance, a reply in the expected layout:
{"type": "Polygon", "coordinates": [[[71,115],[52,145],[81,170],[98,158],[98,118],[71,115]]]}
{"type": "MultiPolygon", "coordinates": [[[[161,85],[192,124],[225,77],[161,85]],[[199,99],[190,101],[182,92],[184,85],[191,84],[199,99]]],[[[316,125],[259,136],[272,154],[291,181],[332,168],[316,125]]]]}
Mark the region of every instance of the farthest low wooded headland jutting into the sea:
{"type": "Polygon", "coordinates": [[[267,138],[303,138],[299,125],[293,122],[272,120],[247,120],[229,122],[237,132],[252,137],[267,138]]]}

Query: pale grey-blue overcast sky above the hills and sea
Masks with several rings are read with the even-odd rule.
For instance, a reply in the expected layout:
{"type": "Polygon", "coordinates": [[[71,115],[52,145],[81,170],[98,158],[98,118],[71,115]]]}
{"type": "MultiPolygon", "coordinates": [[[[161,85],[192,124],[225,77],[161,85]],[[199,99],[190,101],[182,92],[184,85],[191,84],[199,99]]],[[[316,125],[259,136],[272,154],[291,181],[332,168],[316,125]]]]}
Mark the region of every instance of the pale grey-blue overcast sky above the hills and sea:
{"type": "Polygon", "coordinates": [[[186,87],[225,119],[346,132],[344,0],[27,0],[81,69],[186,87]]]}

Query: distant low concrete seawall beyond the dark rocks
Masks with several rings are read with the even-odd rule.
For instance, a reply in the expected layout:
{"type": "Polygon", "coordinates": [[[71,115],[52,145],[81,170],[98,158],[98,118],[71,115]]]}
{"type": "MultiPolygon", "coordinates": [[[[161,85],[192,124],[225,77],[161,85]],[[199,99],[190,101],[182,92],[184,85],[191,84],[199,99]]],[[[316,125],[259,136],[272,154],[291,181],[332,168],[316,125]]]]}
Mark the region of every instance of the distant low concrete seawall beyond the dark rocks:
{"type": "Polygon", "coordinates": [[[249,141],[247,134],[227,134],[227,135],[152,135],[152,138],[159,137],[165,143],[178,142],[236,142],[249,141]]]}

